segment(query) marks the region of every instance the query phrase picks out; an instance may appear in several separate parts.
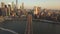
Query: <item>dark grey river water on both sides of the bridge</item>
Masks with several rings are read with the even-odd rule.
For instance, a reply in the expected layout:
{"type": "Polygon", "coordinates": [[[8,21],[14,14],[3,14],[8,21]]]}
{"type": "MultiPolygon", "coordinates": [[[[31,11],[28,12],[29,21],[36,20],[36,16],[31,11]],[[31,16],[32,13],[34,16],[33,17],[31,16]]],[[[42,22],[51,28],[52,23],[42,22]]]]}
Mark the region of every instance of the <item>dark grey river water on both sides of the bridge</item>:
{"type": "MultiPolygon", "coordinates": [[[[19,20],[18,18],[14,20],[6,20],[0,24],[0,34],[25,34],[26,24],[26,19],[19,20]],[[5,29],[8,31],[5,31],[5,29]]],[[[32,31],[33,34],[60,34],[60,25],[33,20],[32,31]]]]}

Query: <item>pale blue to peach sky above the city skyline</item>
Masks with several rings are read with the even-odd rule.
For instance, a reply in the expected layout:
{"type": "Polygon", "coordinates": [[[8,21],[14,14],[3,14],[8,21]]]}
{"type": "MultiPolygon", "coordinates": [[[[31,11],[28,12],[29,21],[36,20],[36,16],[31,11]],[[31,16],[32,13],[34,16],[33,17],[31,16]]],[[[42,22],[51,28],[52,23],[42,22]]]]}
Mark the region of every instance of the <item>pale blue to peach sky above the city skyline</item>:
{"type": "MultiPolygon", "coordinates": [[[[16,0],[0,0],[0,2],[5,2],[6,4],[14,2],[16,0]]],[[[34,6],[39,6],[47,9],[60,9],[60,0],[18,0],[18,6],[24,2],[25,8],[33,8],[34,6]]]]}

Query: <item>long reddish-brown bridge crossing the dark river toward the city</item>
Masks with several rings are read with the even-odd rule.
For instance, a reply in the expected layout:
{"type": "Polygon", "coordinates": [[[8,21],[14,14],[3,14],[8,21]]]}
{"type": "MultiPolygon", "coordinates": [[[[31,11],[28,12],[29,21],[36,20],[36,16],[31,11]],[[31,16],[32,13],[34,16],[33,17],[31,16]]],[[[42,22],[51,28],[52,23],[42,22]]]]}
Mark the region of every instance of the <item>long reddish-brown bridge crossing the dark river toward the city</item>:
{"type": "Polygon", "coordinates": [[[32,15],[28,14],[27,16],[27,24],[25,34],[33,34],[32,30],[32,15]]]}

